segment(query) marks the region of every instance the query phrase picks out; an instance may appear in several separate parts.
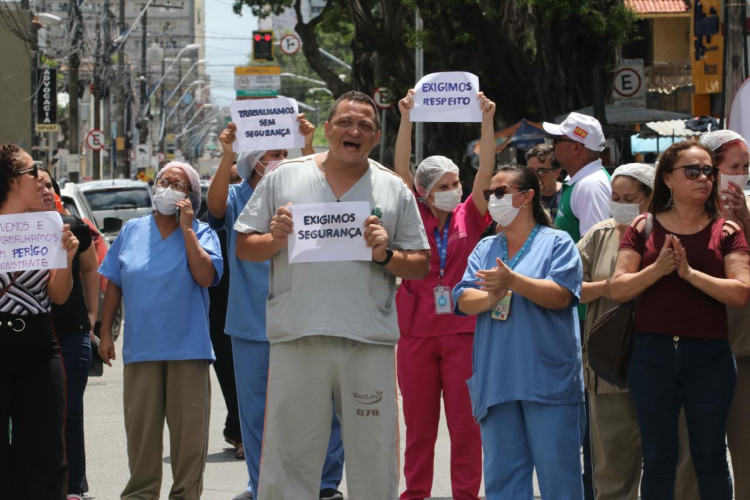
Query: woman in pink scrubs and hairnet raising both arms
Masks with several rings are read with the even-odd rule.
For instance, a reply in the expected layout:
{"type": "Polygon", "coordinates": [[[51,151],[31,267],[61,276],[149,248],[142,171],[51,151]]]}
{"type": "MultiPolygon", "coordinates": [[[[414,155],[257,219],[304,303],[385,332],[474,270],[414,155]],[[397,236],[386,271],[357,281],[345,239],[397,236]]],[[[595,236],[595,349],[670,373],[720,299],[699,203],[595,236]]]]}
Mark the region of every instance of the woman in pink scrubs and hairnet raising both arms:
{"type": "Polygon", "coordinates": [[[431,248],[430,274],[403,280],[396,293],[401,337],[396,350],[398,384],[404,402],[406,448],[402,500],[430,495],[440,396],[445,402],[451,438],[453,498],[478,500],[482,480],[482,444],[471,416],[466,379],[471,375],[474,318],[453,315],[451,288],[461,279],[466,259],[487,227],[487,200],[495,167],[493,117],[495,103],[481,92],[479,171],[472,193],[461,201],[458,167],[445,156],[430,156],[417,167],[412,181],[411,129],[414,90],[398,103],[401,125],[396,139],[395,171],[417,191],[419,213],[431,248]]]}

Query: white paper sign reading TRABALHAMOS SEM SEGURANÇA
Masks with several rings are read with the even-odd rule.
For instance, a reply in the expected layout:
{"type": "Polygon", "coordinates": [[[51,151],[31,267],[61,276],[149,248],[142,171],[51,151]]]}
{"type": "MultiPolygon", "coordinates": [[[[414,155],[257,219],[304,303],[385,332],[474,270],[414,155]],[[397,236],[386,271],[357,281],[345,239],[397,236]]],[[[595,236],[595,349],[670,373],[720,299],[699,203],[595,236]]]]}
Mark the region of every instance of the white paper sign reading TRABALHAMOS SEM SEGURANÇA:
{"type": "Polygon", "coordinates": [[[232,121],[237,125],[235,152],[301,148],[297,101],[289,97],[234,101],[232,121]]]}

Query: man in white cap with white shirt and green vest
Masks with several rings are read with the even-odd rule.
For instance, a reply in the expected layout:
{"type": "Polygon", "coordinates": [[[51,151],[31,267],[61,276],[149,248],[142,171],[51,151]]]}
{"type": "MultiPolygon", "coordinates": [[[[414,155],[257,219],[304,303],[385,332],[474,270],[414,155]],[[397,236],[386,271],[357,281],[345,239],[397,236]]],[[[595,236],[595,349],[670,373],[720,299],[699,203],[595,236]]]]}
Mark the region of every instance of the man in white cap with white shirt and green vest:
{"type": "Polygon", "coordinates": [[[555,158],[570,178],[563,185],[555,226],[573,241],[599,221],[609,218],[612,187],[599,158],[604,151],[604,133],[599,120],[570,113],[560,125],[544,122],[552,135],[555,158]]]}

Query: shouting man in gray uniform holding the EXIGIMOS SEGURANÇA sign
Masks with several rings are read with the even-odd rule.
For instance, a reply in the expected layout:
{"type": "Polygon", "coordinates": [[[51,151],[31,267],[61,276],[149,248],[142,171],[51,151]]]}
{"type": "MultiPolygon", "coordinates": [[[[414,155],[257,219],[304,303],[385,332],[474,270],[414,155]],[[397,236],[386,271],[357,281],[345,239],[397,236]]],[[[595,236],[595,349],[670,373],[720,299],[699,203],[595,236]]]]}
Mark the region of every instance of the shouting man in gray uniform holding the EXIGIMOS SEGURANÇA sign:
{"type": "Polygon", "coordinates": [[[398,495],[394,346],[396,277],[429,271],[416,200],[400,177],[368,155],[380,139],[375,103],[347,92],[325,124],[326,153],[279,165],[234,228],[240,259],[271,259],[271,343],[259,497],[316,498],[331,427],[341,421],[351,498],[398,495]],[[372,261],[289,263],[288,204],[366,201],[372,261]]]}

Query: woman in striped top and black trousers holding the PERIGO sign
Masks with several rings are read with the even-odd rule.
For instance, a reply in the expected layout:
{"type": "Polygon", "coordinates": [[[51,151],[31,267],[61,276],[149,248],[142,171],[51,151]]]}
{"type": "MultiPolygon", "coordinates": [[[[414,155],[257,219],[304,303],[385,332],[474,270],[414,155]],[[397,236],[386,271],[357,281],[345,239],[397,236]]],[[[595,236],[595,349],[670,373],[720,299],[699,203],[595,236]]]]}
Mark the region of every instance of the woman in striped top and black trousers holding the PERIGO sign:
{"type": "MultiPolygon", "coordinates": [[[[45,210],[39,167],[15,144],[0,145],[0,215],[45,210]]],[[[65,374],[51,304],[72,288],[78,240],[62,226],[67,267],[0,273],[0,484],[3,497],[67,495],[65,374]],[[8,439],[10,432],[10,439],[8,439]]]]}

